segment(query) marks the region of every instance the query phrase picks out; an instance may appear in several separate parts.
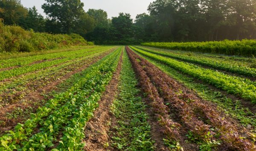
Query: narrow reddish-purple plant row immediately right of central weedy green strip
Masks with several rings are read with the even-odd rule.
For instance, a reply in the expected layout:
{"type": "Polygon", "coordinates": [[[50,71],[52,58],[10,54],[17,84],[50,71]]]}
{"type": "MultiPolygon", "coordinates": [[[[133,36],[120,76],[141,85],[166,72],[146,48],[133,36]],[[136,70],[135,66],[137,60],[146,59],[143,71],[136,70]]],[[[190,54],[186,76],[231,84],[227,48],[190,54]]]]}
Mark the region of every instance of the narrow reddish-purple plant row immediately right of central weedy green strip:
{"type": "MultiPolygon", "coordinates": [[[[156,131],[154,128],[151,130],[152,137],[157,140],[157,145],[159,143],[160,146],[164,146],[163,138],[168,138],[169,140],[180,142],[180,145],[185,150],[197,150],[196,144],[185,141],[187,134],[186,128],[182,126],[182,123],[179,123],[178,120],[175,119],[176,117],[170,116],[170,114],[174,113],[170,112],[168,106],[165,105],[164,99],[160,97],[160,93],[157,88],[152,83],[147,73],[143,70],[143,66],[140,65],[140,60],[135,58],[134,54],[128,47],[126,50],[140,81],[140,86],[144,93],[148,95],[148,101],[146,103],[151,106],[151,111],[154,111],[153,119],[159,119],[157,122],[158,129],[156,131]]],[[[160,149],[160,146],[157,146],[157,148],[160,149]]],[[[162,150],[166,149],[166,147],[163,147],[162,150]]]]}

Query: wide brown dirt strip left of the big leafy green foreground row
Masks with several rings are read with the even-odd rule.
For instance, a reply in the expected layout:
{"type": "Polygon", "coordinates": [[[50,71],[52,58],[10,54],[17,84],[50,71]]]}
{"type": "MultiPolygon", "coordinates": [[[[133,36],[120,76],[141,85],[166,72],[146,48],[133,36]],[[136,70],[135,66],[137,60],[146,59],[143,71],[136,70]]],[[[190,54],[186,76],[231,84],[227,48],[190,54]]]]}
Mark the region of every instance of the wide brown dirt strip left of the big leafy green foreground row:
{"type": "Polygon", "coordinates": [[[3,133],[4,131],[11,130],[15,125],[17,125],[17,123],[23,123],[23,121],[26,120],[26,118],[23,118],[23,117],[9,119],[6,117],[8,113],[12,113],[12,111],[14,111],[16,108],[21,108],[23,109],[23,111],[25,111],[27,108],[32,108],[33,110],[32,112],[35,112],[36,109],[39,106],[43,106],[44,102],[46,101],[46,99],[42,95],[43,93],[50,94],[53,90],[58,91],[58,88],[56,87],[57,85],[67,80],[73,74],[79,73],[83,71],[85,68],[87,68],[88,66],[92,65],[93,63],[96,63],[98,60],[105,57],[106,54],[110,53],[114,49],[115,48],[99,55],[98,57],[94,57],[93,60],[90,62],[85,61],[83,66],[65,74],[63,77],[60,77],[57,80],[52,79],[52,81],[48,81],[47,84],[42,83],[42,87],[38,87],[35,91],[27,91],[27,93],[25,93],[23,97],[23,100],[25,101],[23,102],[19,101],[15,104],[8,105],[8,106],[5,106],[4,108],[1,108],[0,120],[4,121],[5,123],[0,125],[0,134],[3,133]]]}

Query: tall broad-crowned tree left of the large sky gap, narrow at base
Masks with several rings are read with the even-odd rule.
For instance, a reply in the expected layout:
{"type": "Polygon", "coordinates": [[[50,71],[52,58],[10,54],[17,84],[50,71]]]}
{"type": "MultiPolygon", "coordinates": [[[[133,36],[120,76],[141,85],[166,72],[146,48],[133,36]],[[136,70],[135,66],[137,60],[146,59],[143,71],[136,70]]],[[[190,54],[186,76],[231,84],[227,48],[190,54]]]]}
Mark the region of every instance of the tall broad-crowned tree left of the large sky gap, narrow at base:
{"type": "Polygon", "coordinates": [[[84,13],[84,3],[80,0],[46,0],[44,12],[53,20],[59,21],[65,33],[70,34],[73,26],[84,13]]]}

